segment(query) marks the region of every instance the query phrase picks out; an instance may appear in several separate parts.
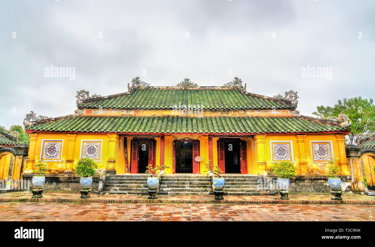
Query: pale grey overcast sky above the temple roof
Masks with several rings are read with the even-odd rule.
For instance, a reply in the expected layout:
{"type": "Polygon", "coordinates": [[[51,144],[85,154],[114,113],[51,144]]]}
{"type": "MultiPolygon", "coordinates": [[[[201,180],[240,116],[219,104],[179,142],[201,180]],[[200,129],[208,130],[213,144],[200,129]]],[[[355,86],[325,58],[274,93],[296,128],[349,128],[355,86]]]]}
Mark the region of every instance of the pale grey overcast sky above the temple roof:
{"type": "Polygon", "coordinates": [[[251,93],[296,90],[300,114],[344,97],[374,98],[375,1],[1,1],[0,125],[31,110],[59,117],[77,90],[127,91],[186,76],[200,86],[240,77],[251,93]],[[74,67],[75,78],[45,77],[74,67]],[[303,67],[332,77],[303,77],[303,67]],[[330,70],[330,69],[329,69],[330,70]],[[143,73],[143,75],[142,75],[143,73]]]}

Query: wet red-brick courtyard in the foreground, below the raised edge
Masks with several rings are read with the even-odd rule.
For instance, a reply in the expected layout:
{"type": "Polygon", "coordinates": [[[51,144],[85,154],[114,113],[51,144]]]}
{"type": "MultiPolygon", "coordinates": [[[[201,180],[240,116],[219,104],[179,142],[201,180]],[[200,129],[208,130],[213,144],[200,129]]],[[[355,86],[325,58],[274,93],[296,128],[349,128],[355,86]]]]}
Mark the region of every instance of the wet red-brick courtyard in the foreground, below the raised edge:
{"type": "Polygon", "coordinates": [[[0,221],[375,221],[374,217],[374,205],[0,203],[0,221]]]}

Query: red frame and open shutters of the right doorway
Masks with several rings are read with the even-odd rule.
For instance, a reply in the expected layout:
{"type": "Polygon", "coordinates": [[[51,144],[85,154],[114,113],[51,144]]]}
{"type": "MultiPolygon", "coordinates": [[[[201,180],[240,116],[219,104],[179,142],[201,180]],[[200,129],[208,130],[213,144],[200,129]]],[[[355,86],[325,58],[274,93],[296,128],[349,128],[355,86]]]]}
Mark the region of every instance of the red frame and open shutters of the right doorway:
{"type": "Polygon", "coordinates": [[[240,138],[220,139],[217,141],[217,165],[223,174],[225,173],[225,142],[239,142],[240,172],[241,174],[248,174],[246,141],[242,141],[240,138]]]}

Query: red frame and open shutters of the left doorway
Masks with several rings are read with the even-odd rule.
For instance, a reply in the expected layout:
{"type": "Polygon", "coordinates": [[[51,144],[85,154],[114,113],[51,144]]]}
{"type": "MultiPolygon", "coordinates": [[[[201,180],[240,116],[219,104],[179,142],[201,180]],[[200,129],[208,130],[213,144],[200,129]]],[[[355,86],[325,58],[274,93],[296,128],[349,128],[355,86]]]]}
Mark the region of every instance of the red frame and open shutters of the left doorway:
{"type": "Polygon", "coordinates": [[[150,140],[150,139],[131,140],[130,141],[130,148],[131,148],[130,150],[130,173],[133,173],[133,174],[138,173],[139,142],[148,142],[148,164],[152,163],[153,168],[155,168],[155,165],[156,165],[156,140],[150,140]],[[152,153],[150,153],[150,145],[152,145],[152,149],[153,149],[152,153]]]}

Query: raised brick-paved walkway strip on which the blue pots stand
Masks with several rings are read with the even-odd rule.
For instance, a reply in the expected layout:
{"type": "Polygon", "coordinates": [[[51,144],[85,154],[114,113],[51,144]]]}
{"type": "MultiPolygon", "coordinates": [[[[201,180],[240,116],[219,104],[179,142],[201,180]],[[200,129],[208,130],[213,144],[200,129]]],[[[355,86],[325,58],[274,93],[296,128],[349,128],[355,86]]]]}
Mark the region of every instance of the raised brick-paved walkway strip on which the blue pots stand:
{"type": "Polygon", "coordinates": [[[375,196],[366,196],[354,193],[342,195],[343,201],[333,201],[329,193],[290,193],[290,200],[279,200],[280,196],[224,196],[224,201],[215,201],[213,195],[158,195],[157,200],[148,200],[147,195],[97,195],[91,194],[90,199],[80,199],[80,192],[43,192],[43,198],[32,199],[31,192],[12,192],[0,194],[0,202],[108,202],[108,203],[231,203],[231,204],[258,204],[258,203],[288,203],[288,204],[371,204],[375,205],[375,196]]]}

